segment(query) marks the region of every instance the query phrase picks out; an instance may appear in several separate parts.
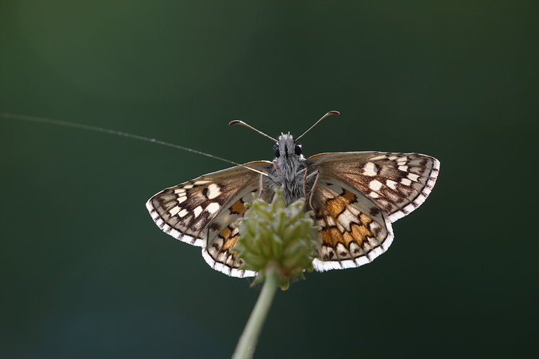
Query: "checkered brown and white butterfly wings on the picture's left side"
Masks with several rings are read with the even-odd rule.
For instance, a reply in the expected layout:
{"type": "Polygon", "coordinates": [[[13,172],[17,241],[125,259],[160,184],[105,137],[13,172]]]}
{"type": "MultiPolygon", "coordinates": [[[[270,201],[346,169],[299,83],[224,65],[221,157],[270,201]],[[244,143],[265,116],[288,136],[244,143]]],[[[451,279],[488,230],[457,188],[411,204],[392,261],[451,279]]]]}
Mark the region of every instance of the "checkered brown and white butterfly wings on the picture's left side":
{"type": "MultiPolygon", "coordinates": [[[[243,216],[244,204],[252,202],[252,192],[260,188],[261,175],[245,166],[264,173],[273,167],[271,162],[257,161],[209,173],[164,189],[146,203],[162,231],[201,246],[202,256],[212,268],[234,277],[256,275],[239,269],[243,260],[229,251],[239,237],[231,223],[243,216]]],[[[265,191],[263,195],[271,198],[272,193],[265,191]]]]}

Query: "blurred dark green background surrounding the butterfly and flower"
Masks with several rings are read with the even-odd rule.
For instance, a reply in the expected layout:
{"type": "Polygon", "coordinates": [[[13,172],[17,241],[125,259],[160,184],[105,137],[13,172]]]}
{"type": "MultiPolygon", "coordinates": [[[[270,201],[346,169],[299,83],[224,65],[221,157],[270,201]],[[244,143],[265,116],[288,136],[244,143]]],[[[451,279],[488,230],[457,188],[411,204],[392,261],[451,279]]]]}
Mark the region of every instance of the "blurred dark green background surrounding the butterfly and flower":
{"type": "MultiPolygon", "coordinates": [[[[388,253],[278,292],[255,358],[539,353],[536,1],[6,1],[0,113],[236,162],[419,152],[431,197],[388,253]]],[[[163,188],[226,168],[0,118],[0,357],[229,358],[258,297],[153,224],[163,188]]]]}

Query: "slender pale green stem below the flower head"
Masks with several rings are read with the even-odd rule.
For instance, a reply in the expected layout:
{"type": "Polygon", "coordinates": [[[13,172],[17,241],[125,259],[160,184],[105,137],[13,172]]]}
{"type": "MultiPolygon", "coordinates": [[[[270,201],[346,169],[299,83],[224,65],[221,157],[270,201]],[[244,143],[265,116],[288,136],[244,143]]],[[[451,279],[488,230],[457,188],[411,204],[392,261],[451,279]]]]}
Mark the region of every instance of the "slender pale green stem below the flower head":
{"type": "Polygon", "coordinates": [[[275,268],[268,268],[265,271],[266,280],[262,287],[262,291],[254,304],[253,311],[245,329],[238,340],[236,351],[232,359],[248,359],[252,358],[256,343],[258,342],[258,336],[262,331],[262,326],[266,320],[267,312],[272,307],[273,297],[277,289],[277,271],[275,268]]]}

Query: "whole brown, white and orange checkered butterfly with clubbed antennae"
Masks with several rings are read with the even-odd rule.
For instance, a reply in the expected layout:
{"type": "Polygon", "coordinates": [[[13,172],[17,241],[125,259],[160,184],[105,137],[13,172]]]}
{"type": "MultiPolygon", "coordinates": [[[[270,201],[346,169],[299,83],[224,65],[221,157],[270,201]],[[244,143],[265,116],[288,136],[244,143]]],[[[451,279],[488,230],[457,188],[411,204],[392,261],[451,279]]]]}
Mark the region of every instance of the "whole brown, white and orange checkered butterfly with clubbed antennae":
{"type": "MultiPolygon", "coordinates": [[[[321,119],[333,114],[339,113],[331,111],[321,119]]],[[[231,122],[238,123],[252,128],[231,122]]],[[[208,173],[166,188],[146,203],[162,231],[201,246],[202,257],[213,269],[234,277],[256,275],[242,269],[243,260],[232,249],[239,237],[233,223],[245,215],[252,193],[269,202],[283,186],[287,205],[305,197],[305,211],[314,211],[314,222],[321,228],[315,237],[319,247],[314,269],[345,269],[372,262],[387,251],[393,241],[391,223],[426,200],[439,172],[437,159],[418,153],[321,153],[305,158],[302,145],[290,133],[269,138],[276,142],[272,162],[208,173]]]]}

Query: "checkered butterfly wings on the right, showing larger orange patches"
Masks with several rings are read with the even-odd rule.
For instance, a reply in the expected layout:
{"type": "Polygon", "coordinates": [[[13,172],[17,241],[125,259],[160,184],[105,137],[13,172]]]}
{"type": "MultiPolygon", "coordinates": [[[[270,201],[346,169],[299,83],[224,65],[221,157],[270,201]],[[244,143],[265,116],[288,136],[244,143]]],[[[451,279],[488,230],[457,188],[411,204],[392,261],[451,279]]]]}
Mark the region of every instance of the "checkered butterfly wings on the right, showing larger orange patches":
{"type": "Polygon", "coordinates": [[[322,153],[306,161],[319,171],[312,193],[318,271],[360,266],[393,241],[391,223],[421,205],[436,182],[439,162],[417,153],[322,153]]]}

